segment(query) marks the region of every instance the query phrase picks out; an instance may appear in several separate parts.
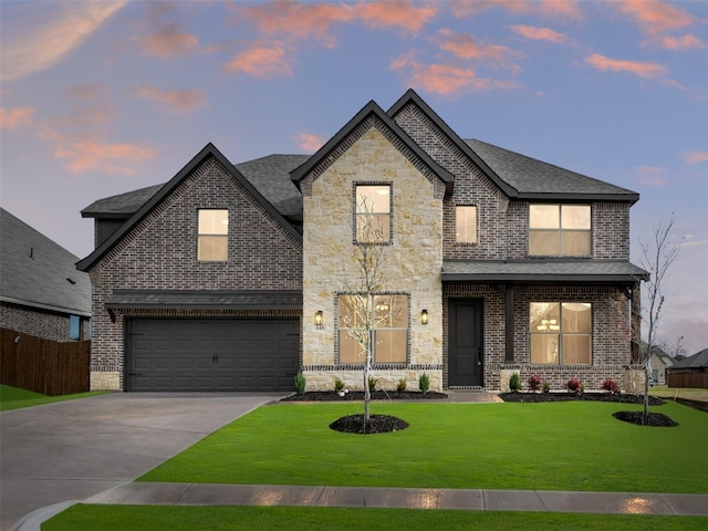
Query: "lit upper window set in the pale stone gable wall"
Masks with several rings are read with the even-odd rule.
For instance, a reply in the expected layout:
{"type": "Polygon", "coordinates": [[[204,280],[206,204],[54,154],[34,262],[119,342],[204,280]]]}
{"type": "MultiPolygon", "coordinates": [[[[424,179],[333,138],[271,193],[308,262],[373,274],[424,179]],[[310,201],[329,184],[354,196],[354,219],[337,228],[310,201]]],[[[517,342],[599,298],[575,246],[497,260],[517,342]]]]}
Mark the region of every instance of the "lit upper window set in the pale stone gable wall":
{"type": "Polygon", "coordinates": [[[356,185],[357,243],[391,242],[391,185],[356,185]]]}

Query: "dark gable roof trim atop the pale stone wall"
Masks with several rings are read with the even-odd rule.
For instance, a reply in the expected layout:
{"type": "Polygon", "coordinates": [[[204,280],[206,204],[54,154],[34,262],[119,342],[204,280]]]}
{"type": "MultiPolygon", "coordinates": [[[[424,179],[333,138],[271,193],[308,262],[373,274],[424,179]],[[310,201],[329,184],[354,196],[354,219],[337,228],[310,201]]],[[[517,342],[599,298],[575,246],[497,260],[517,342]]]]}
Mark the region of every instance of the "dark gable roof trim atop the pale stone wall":
{"type": "Polygon", "coordinates": [[[342,127],[336,135],[322,146],[312,157],[304,164],[300,165],[290,173],[290,178],[300,186],[300,181],[322,160],[326,159],[352,132],[358,127],[364,121],[375,116],[384,123],[394,135],[396,135],[403,144],[410,149],[444,184],[447,194],[451,194],[455,177],[442,166],[437,164],[430,155],[424,152],[406,132],[404,132],[393,118],[384,112],[383,108],[374,101],[368,102],[356,115],[342,127]]]}

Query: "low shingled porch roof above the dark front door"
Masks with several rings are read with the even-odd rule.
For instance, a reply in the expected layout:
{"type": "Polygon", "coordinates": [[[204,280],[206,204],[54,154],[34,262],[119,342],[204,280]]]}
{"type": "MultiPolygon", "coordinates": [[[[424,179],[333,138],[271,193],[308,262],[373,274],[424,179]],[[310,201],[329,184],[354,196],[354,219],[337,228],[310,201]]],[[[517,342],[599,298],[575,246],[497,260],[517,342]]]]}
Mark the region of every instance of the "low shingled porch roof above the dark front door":
{"type": "Polygon", "coordinates": [[[489,261],[444,260],[442,280],[479,282],[628,282],[646,280],[647,272],[622,260],[489,261]]]}

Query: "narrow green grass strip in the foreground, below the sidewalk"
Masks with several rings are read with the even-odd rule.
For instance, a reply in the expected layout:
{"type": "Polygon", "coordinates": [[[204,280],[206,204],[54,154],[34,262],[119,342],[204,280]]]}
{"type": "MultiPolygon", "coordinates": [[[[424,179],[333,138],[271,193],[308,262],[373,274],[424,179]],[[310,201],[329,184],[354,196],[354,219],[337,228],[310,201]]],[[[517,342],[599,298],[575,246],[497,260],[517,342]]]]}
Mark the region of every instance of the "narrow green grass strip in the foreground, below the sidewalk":
{"type": "Polygon", "coordinates": [[[690,531],[708,519],[626,514],[549,512],[430,511],[404,509],[321,509],[290,507],[74,506],[42,524],[42,531],[331,531],[337,529],[436,531],[690,531]]]}

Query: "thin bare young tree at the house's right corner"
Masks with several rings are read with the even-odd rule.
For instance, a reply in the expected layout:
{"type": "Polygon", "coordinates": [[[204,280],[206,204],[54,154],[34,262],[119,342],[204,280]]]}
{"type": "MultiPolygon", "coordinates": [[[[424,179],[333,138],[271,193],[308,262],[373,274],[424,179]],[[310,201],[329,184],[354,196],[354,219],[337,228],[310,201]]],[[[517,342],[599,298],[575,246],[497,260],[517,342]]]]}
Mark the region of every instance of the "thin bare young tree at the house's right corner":
{"type": "Polygon", "coordinates": [[[675,217],[671,215],[668,222],[659,222],[654,227],[652,239],[645,240],[642,246],[642,267],[649,272],[646,281],[646,306],[644,320],[647,323],[646,347],[642,352],[642,367],[644,368],[644,410],[642,424],[647,424],[649,418],[649,358],[657,343],[657,331],[664,309],[664,287],[668,279],[668,271],[678,256],[679,242],[671,230],[675,217]]]}

